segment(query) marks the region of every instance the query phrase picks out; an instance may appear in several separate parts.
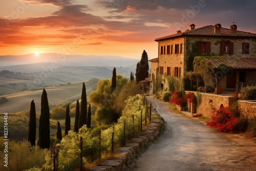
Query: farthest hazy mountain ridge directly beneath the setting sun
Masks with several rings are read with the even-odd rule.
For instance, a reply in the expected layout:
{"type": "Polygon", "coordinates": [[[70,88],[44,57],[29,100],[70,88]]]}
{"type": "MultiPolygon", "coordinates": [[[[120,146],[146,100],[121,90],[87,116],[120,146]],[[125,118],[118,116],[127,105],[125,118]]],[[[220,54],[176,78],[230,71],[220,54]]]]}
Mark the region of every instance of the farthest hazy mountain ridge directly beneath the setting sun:
{"type": "Polygon", "coordinates": [[[136,65],[138,61],[138,59],[111,55],[61,55],[57,53],[41,53],[38,54],[38,56],[35,54],[0,56],[0,67],[40,62],[54,62],[58,65],[66,66],[129,67],[136,65]]]}

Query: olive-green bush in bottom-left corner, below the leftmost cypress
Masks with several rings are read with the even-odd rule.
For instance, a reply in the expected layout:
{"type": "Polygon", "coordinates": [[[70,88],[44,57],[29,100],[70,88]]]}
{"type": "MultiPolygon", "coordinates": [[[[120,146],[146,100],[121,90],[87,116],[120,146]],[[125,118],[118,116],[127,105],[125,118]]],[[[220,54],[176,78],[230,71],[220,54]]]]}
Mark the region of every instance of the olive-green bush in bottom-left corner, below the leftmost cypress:
{"type": "MultiPolygon", "coordinates": [[[[4,139],[1,138],[1,142],[4,139]]],[[[3,143],[1,143],[3,144],[3,143]]],[[[4,149],[4,148],[1,148],[4,149]]],[[[45,162],[47,149],[40,149],[39,146],[31,146],[28,141],[8,142],[8,168],[4,166],[4,151],[0,151],[0,170],[25,170],[31,167],[40,168],[45,162]]]]}

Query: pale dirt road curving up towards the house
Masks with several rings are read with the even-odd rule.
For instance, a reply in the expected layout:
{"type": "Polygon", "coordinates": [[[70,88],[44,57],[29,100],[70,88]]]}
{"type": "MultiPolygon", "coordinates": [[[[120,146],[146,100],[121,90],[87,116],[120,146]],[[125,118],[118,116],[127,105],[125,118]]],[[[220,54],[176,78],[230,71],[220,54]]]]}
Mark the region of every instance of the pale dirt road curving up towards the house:
{"type": "Polygon", "coordinates": [[[169,110],[147,98],[166,122],[165,132],[127,170],[256,170],[256,143],[169,110]]]}

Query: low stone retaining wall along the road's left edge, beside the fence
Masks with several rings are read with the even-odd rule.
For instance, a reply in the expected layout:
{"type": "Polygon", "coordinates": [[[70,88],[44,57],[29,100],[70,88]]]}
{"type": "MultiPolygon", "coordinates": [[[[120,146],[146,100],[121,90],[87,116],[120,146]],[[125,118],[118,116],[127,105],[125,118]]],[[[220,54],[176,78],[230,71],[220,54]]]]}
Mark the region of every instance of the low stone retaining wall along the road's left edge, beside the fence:
{"type": "Polygon", "coordinates": [[[115,160],[104,160],[102,163],[90,168],[90,171],[121,171],[126,167],[134,166],[134,159],[140,156],[140,150],[146,144],[153,141],[159,134],[163,121],[154,117],[159,116],[155,109],[152,109],[152,119],[145,130],[136,138],[130,140],[124,147],[120,147],[115,152],[115,156],[119,156],[115,160]]]}

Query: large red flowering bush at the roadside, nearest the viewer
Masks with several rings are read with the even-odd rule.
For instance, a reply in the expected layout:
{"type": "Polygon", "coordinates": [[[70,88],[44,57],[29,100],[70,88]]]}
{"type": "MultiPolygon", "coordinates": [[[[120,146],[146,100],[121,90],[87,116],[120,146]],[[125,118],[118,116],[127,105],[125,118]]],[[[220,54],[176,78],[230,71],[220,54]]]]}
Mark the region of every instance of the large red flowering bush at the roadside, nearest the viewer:
{"type": "Polygon", "coordinates": [[[244,132],[247,127],[247,121],[236,117],[237,111],[235,114],[232,114],[229,109],[230,107],[222,107],[220,110],[214,110],[213,115],[211,116],[211,121],[206,125],[210,127],[215,127],[219,132],[222,133],[239,133],[244,132]]]}

